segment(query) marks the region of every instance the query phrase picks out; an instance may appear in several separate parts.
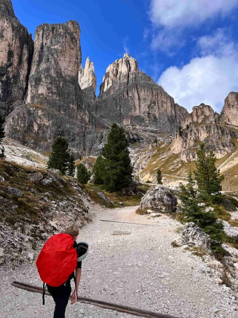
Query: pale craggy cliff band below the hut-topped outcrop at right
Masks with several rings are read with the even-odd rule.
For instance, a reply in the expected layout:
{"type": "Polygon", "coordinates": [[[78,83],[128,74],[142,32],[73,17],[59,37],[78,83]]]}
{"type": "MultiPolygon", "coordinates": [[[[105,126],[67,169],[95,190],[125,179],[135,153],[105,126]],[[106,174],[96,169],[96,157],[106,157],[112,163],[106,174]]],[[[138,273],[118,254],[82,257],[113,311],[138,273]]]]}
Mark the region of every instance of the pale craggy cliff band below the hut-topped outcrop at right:
{"type": "MultiPolygon", "coordinates": [[[[171,143],[171,151],[175,154],[187,149],[199,149],[201,142],[205,143],[208,151],[212,150],[217,158],[221,158],[234,150],[231,138],[237,133],[219,124],[202,124],[196,128],[177,131],[171,143]]],[[[195,159],[195,154],[181,154],[180,158],[195,159]]]]}

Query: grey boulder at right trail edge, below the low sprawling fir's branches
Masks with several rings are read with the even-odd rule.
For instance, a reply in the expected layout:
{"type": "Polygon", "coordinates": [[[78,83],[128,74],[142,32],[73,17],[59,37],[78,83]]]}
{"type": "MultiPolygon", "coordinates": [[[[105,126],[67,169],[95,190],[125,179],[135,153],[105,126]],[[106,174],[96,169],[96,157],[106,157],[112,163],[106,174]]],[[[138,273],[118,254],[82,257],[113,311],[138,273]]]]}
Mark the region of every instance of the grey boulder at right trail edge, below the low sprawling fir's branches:
{"type": "Polygon", "coordinates": [[[210,249],[209,236],[193,222],[185,223],[182,232],[179,234],[179,243],[182,245],[196,245],[205,249],[210,249]]]}

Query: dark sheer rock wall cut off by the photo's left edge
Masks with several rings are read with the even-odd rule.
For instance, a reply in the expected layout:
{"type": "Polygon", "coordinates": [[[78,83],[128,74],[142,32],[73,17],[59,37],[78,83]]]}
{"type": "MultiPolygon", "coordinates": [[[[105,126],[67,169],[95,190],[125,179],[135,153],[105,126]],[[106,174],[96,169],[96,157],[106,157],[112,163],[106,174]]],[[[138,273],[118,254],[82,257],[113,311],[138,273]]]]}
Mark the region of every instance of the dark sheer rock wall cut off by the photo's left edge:
{"type": "Polygon", "coordinates": [[[10,0],[0,2],[0,111],[7,116],[23,100],[33,54],[31,34],[16,18],[10,0]]]}

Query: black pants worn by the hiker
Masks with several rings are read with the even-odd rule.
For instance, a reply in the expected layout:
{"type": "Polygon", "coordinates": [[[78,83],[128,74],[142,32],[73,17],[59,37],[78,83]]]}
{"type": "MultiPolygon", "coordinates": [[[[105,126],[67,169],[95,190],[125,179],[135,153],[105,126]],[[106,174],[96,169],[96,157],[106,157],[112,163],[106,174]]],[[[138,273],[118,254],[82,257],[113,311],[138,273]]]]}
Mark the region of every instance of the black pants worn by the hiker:
{"type": "Polygon", "coordinates": [[[55,301],[55,311],[53,318],[65,318],[65,309],[68,305],[69,296],[71,294],[70,281],[67,281],[66,286],[51,287],[47,285],[47,289],[55,301]]]}

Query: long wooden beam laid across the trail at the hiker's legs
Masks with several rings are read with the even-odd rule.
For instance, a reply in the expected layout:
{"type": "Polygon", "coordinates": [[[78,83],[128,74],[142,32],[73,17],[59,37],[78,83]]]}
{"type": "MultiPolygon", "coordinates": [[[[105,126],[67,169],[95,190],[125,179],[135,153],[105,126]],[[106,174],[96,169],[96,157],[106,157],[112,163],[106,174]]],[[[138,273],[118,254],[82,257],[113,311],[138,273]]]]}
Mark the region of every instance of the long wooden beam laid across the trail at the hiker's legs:
{"type": "MultiPolygon", "coordinates": [[[[25,283],[21,283],[21,282],[18,282],[18,281],[14,281],[11,285],[15,286],[17,288],[21,288],[21,289],[27,290],[29,292],[43,294],[43,288],[42,287],[37,287],[37,286],[33,286],[31,284],[25,284],[25,283]]],[[[45,294],[46,295],[50,295],[50,293],[47,292],[47,291],[45,292],[45,294]]],[[[71,298],[71,296],[69,297],[69,299],[70,298],[71,298]]],[[[105,302],[105,301],[98,301],[98,300],[94,300],[94,299],[86,298],[86,297],[78,297],[78,301],[80,301],[82,303],[85,303],[85,304],[89,304],[89,305],[93,305],[93,306],[97,306],[97,307],[101,307],[101,308],[105,308],[105,309],[111,309],[111,310],[115,310],[115,311],[118,311],[118,312],[127,313],[127,314],[131,314],[131,315],[136,315],[136,316],[140,316],[140,317],[147,317],[147,318],[175,318],[174,316],[156,314],[156,313],[153,313],[153,312],[148,311],[148,310],[131,308],[131,307],[127,307],[127,306],[122,306],[122,305],[108,303],[108,302],[105,302]]]]}

